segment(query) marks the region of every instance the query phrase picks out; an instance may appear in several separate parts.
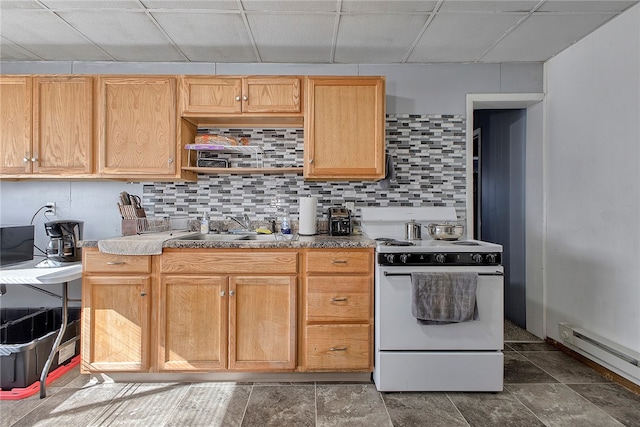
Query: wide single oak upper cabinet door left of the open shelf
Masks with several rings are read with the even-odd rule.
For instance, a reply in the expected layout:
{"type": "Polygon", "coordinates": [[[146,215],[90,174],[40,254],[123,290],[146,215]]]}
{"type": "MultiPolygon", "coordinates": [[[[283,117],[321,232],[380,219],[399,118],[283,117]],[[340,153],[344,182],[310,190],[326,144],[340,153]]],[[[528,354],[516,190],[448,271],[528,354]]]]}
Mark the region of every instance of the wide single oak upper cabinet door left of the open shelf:
{"type": "Polygon", "coordinates": [[[176,77],[98,78],[98,172],[127,179],[176,175],[176,77]]]}

